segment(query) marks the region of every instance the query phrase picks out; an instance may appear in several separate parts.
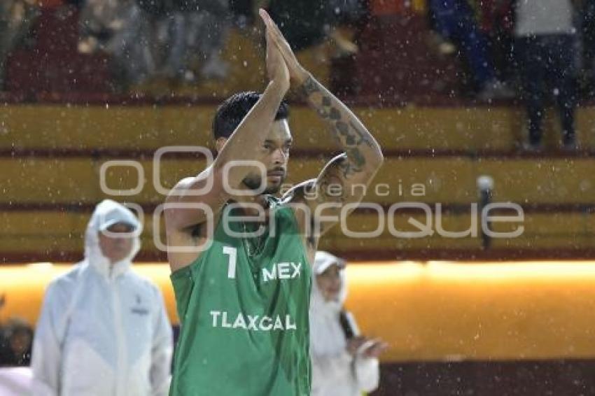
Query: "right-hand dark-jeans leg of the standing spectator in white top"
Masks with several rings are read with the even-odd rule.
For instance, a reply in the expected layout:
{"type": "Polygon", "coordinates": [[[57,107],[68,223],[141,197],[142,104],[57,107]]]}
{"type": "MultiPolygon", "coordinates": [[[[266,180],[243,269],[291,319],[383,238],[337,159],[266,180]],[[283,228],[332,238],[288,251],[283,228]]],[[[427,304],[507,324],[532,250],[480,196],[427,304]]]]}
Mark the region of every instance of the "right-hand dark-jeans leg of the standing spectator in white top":
{"type": "Polygon", "coordinates": [[[576,148],[575,110],[576,97],[576,65],[575,36],[556,34],[545,37],[545,55],[547,55],[547,80],[552,81],[552,90],[558,107],[562,144],[566,149],[576,148]]]}

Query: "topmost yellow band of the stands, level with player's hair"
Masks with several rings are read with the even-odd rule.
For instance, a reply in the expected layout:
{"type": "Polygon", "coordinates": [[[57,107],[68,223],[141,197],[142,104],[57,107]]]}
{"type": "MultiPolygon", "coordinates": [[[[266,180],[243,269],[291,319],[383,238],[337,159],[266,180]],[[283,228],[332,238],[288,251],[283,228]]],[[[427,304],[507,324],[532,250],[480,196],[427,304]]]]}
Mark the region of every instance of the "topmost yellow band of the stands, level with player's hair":
{"type": "MultiPolygon", "coordinates": [[[[214,105],[59,106],[17,104],[0,111],[0,148],[155,150],[162,146],[211,144],[214,105]]],[[[513,150],[525,141],[521,108],[353,108],[384,150],[513,150]]],[[[559,146],[559,122],[544,122],[547,147],[559,146]]],[[[595,147],[595,107],[577,110],[577,137],[595,147]]],[[[335,150],[314,111],[293,106],[290,127],[300,150],[335,150]]]]}

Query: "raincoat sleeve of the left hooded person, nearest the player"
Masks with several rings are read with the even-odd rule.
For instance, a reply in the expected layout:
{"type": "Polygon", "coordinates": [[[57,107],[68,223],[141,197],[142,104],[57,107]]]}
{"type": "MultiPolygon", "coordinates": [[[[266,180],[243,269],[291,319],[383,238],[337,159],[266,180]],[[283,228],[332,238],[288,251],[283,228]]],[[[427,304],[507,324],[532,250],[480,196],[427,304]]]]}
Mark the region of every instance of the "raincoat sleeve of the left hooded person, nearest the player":
{"type": "Polygon", "coordinates": [[[159,305],[153,330],[153,348],[151,349],[151,395],[167,396],[171,381],[173,336],[172,325],[167,318],[163,296],[155,290],[155,302],[159,305]]]}

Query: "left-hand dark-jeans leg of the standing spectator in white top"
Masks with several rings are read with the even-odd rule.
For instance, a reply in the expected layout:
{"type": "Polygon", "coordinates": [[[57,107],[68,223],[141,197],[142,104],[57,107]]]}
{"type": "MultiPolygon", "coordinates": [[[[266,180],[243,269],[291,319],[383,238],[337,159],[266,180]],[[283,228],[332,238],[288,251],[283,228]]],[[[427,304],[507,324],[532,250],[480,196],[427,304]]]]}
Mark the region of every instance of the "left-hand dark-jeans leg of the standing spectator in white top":
{"type": "Polygon", "coordinates": [[[528,146],[541,146],[542,120],[545,111],[544,78],[546,59],[542,56],[540,37],[521,37],[514,41],[514,54],[521,69],[521,97],[527,113],[528,146]]]}

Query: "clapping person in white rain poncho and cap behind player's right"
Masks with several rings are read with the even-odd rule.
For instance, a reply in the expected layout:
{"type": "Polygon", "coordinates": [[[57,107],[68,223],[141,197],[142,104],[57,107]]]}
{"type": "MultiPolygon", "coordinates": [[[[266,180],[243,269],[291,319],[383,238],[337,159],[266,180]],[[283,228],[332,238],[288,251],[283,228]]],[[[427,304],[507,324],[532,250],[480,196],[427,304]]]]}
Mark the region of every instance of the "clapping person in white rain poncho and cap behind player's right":
{"type": "Polygon", "coordinates": [[[378,387],[378,356],[386,344],[362,337],[351,314],[343,310],[344,269],[344,260],[316,252],[310,302],[312,396],[359,396],[378,387]]]}

